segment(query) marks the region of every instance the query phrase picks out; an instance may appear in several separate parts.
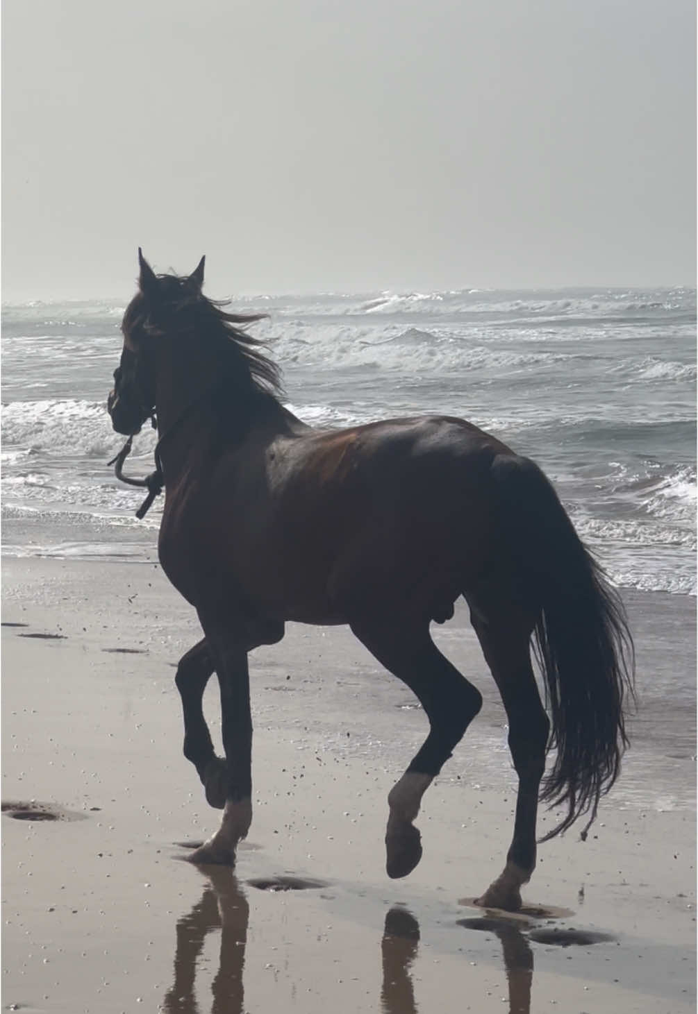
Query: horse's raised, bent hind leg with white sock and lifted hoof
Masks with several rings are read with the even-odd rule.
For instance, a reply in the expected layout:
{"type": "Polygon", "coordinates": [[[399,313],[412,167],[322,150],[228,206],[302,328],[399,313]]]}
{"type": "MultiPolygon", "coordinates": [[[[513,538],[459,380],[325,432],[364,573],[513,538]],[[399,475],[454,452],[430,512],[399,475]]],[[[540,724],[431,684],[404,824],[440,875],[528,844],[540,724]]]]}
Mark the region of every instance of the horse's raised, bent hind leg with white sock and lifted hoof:
{"type": "Polygon", "coordinates": [[[388,796],[386,865],[390,877],[404,877],[422,857],[421,837],[413,824],[422,796],[480,711],[482,697],[438,651],[428,624],[381,627],[371,621],[351,627],[378,661],[413,691],[429,719],[429,735],[388,796]]]}

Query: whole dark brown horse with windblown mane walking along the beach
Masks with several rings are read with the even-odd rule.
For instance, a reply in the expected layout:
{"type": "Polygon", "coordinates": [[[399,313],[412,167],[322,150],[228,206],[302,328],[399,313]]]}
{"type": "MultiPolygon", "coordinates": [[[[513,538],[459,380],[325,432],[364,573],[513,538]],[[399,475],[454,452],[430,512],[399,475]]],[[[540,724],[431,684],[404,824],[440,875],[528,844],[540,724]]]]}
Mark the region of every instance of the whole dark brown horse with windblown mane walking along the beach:
{"type": "Polygon", "coordinates": [[[421,797],[482,703],[429,634],[464,595],[518,775],[506,865],[481,903],[517,909],[536,862],[548,748],[542,798],[566,813],[547,838],[584,813],[588,826],[619,773],[632,681],[619,598],[532,461],[461,419],[305,426],[282,406],[276,366],[243,330],[259,317],[226,313],[202,294],[203,258],[188,277],[155,275],[140,250],[139,260],[109,411],[124,434],[156,414],[160,562],[205,634],[180,662],[177,685],[185,755],[223,818],[193,861],[231,864],[248,834],[248,653],[280,641],[292,620],[348,624],[424,707],[429,734],[388,797],[388,873],[410,873],[422,852],[413,824],[421,797]],[[202,711],[214,670],[224,760],[202,711]]]}

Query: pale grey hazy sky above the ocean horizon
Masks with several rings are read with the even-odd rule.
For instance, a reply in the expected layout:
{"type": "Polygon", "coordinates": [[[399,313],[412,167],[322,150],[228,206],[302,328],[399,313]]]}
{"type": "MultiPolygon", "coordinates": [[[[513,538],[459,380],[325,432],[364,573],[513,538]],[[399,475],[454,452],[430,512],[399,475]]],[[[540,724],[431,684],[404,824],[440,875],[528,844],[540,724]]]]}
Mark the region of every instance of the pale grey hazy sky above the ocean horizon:
{"type": "Polygon", "coordinates": [[[694,284],[693,0],[4,0],[5,301],[694,284]]]}

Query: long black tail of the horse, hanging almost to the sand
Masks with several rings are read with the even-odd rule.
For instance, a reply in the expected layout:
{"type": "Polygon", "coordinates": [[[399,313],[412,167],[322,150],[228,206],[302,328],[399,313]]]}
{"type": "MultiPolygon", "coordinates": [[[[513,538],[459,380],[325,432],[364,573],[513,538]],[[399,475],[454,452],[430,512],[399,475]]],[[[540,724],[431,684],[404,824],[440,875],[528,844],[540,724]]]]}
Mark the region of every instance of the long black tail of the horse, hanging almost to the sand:
{"type": "Polygon", "coordinates": [[[589,813],[618,778],[629,745],[623,703],[633,695],[634,651],[620,596],[577,535],[541,469],[528,458],[498,455],[492,475],[511,550],[541,607],[536,655],[556,748],[541,799],[567,815],[542,841],[589,813]]]}

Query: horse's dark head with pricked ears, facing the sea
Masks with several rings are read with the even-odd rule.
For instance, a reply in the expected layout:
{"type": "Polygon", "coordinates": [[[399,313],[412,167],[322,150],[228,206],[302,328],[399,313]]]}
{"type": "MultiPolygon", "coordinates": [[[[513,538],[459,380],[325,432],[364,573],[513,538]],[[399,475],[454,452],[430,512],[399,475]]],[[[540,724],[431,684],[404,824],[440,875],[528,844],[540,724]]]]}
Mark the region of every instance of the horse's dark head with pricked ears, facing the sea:
{"type": "Polygon", "coordinates": [[[138,292],[126,308],[121,330],[124,348],[114,371],[114,388],[107,409],[117,433],[138,433],[146,419],[155,412],[155,349],[166,334],[167,324],[182,305],[201,294],[204,261],[186,278],[155,275],[141,249],[138,249],[140,275],[138,292]]]}

